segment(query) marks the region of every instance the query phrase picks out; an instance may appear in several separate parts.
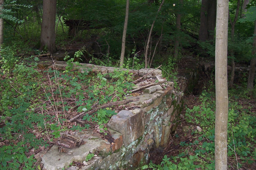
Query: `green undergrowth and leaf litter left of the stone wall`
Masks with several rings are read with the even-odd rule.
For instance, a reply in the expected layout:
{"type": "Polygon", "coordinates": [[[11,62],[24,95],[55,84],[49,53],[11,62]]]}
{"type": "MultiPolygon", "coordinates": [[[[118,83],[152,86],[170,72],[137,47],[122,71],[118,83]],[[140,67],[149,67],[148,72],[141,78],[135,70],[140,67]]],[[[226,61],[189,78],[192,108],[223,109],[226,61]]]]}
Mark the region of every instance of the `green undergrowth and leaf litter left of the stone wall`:
{"type": "Polygon", "coordinates": [[[125,70],[109,75],[72,72],[70,67],[43,71],[37,57],[16,57],[12,51],[3,46],[0,57],[0,169],[37,169],[35,151],[58,140],[63,131],[94,125],[106,132],[105,124],[116,114],[113,107],[85,114],[84,125],[68,120],[124,100],[133,86],[132,74],[125,70]]]}

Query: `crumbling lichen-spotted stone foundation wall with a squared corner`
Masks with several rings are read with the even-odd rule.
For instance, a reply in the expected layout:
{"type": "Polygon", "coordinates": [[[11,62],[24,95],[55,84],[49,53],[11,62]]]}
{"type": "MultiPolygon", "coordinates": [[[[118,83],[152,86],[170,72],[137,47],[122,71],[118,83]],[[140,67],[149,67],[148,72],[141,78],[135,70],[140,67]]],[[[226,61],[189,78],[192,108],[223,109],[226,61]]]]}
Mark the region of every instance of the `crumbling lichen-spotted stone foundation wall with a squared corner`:
{"type": "MultiPolygon", "coordinates": [[[[90,66],[91,70],[103,73],[114,70],[113,67],[90,66]]],[[[64,68],[65,63],[58,62],[54,67],[64,68]]],[[[77,69],[84,71],[88,69],[88,64],[77,69]]],[[[151,72],[150,70],[130,71],[143,76],[146,72],[151,72]]],[[[78,167],[69,167],[73,161],[82,162],[84,166],[81,169],[136,169],[139,165],[147,163],[149,150],[166,147],[170,133],[177,127],[176,121],[180,119],[183,91],[188,86],[187,82],[193,78],[196,69],[190,72],[187,74],[190,76],[179,78],[182,80],[179,81],[182,85],[181,92],[174,89],[173,82],[167,82],[161,77],[161,70],[150,74],[148,77],[151,77],[152,81],[159,80],[161,83],[144,89],[143,94],[136,96],[139,97],[138,101],[128,103],[132,110],[120,111],[110,119],[108,128],[114,139],[113,143],[99,138],[93,130],[73,132],[72,135],[80,138],[84,142],[83,145],[66,149],[65,152],[59,152],[58,147],[53,146],[46,153],[40,152],[37,155],[38,160],[44,164],[44,169],[49,170],[78,169],[78,167]],[[94,157],[86,162],[89,153],[93,153],[94,157]]],[[[140,82],[136,88],[146,83],[148,81],[140,82]]]]}

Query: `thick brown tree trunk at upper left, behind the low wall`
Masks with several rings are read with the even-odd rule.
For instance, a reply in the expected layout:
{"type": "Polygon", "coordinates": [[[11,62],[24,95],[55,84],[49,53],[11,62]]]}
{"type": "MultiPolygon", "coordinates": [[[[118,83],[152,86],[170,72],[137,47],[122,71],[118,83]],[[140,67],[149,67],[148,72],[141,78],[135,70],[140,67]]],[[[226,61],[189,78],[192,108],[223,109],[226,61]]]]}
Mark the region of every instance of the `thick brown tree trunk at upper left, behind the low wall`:
{"type": "Polygon", "coordinates": [[[47,47],[50,53],[57,51],[55,46],[55,20],[57,0],[44,0],[41,27],[40,50],[47,47]]]}

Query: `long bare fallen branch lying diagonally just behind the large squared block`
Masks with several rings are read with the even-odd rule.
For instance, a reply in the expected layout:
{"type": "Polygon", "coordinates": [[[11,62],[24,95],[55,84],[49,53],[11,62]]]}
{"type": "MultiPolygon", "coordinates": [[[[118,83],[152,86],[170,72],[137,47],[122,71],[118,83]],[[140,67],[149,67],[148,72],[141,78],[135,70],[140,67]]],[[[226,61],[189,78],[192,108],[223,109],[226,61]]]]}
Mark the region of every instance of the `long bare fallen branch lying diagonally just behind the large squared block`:
{"type": "Polygon", "coordinates": [[[80,113],[79,115],[76,115],[75,117],[73,117],[72,119],[69,119],[68,121],[69,122],[72,122],[76,119],[78,119],[79,117],[82,117],[83,115],[85,114],[88,114],[88,115],[92,115],[93,113],[97,112],[98,109],[105,109],[107,107],[111,107],[111,106],[114,106],[114,105],[120,105],[120,104],[126,104],[126,103],[130,103],[132,101],[138,101],[139,100],[139,97],[135,97],[135,98],[129,98],[129,99],[126,99],[126,100],[122,100],[122,101],[115,101],[115,102],[110,102],[108,104],[105,104],[105,105],[102,105],[100,107],[97,107],[95,109],[92,109],[91,111],[89,112],[82,112],[80,113]]]}

